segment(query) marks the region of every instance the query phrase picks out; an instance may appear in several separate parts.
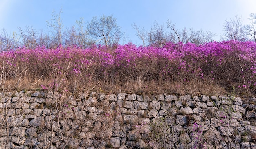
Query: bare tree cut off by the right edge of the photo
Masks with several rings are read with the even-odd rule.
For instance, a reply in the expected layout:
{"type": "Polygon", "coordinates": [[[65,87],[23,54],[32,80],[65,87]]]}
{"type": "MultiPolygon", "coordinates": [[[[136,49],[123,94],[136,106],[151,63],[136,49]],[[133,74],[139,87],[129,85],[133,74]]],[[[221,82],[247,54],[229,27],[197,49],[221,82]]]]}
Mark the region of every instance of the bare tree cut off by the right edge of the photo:
{"type": "Polygon", "coordinates": [[[256,42],[256,13],[251,13],[249,16],[250,24],[245,25],[247,35],[251,36],[252,40],[256,42]]]}

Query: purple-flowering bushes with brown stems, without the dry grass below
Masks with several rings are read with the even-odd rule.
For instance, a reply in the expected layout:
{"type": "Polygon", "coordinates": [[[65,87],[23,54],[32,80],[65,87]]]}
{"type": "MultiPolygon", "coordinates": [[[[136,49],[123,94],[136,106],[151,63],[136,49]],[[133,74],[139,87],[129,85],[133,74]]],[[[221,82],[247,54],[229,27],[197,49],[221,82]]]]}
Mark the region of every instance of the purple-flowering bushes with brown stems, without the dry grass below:
{"type": "MultiPolygon", "coordinates": [[[[114,82],[115,79],[125,81],[130,76],[135,81],[137,78],[178,82],[211,80],[247,89],[256,85],[256,43],[250,41],[209,42],[199,46],[168,42],[162,48],[137,47],[129,43],[118,45],[112,51],[104,46],[88,49],[20,47],[0,53],[0,60],[0,68],[8,64],[20,72],[33,70],[34,78],[43,75],[43,79],[67,73],[70,78],[82,74],[86,79],[93,74],[95,80],[111,78],[114,82]]],[[[9,79],[11,77],[15,75],[9,79]]]]}

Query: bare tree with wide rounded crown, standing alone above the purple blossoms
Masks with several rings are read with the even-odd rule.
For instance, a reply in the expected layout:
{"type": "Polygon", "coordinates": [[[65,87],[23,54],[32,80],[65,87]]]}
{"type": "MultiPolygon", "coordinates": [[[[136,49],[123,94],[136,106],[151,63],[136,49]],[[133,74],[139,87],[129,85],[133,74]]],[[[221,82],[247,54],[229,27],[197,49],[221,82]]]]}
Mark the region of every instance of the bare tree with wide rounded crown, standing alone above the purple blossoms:
{"type": "Polygon", "coordinates": [[[117,19],[113,16],[103,15],[99,19],[92,18],[91,22],[88,22],[87,31],[95,44],[103,43],[107,49],[110,44],[117,44],[121,38],[124,38],[121,27],[117,25],[117,19]]]}

